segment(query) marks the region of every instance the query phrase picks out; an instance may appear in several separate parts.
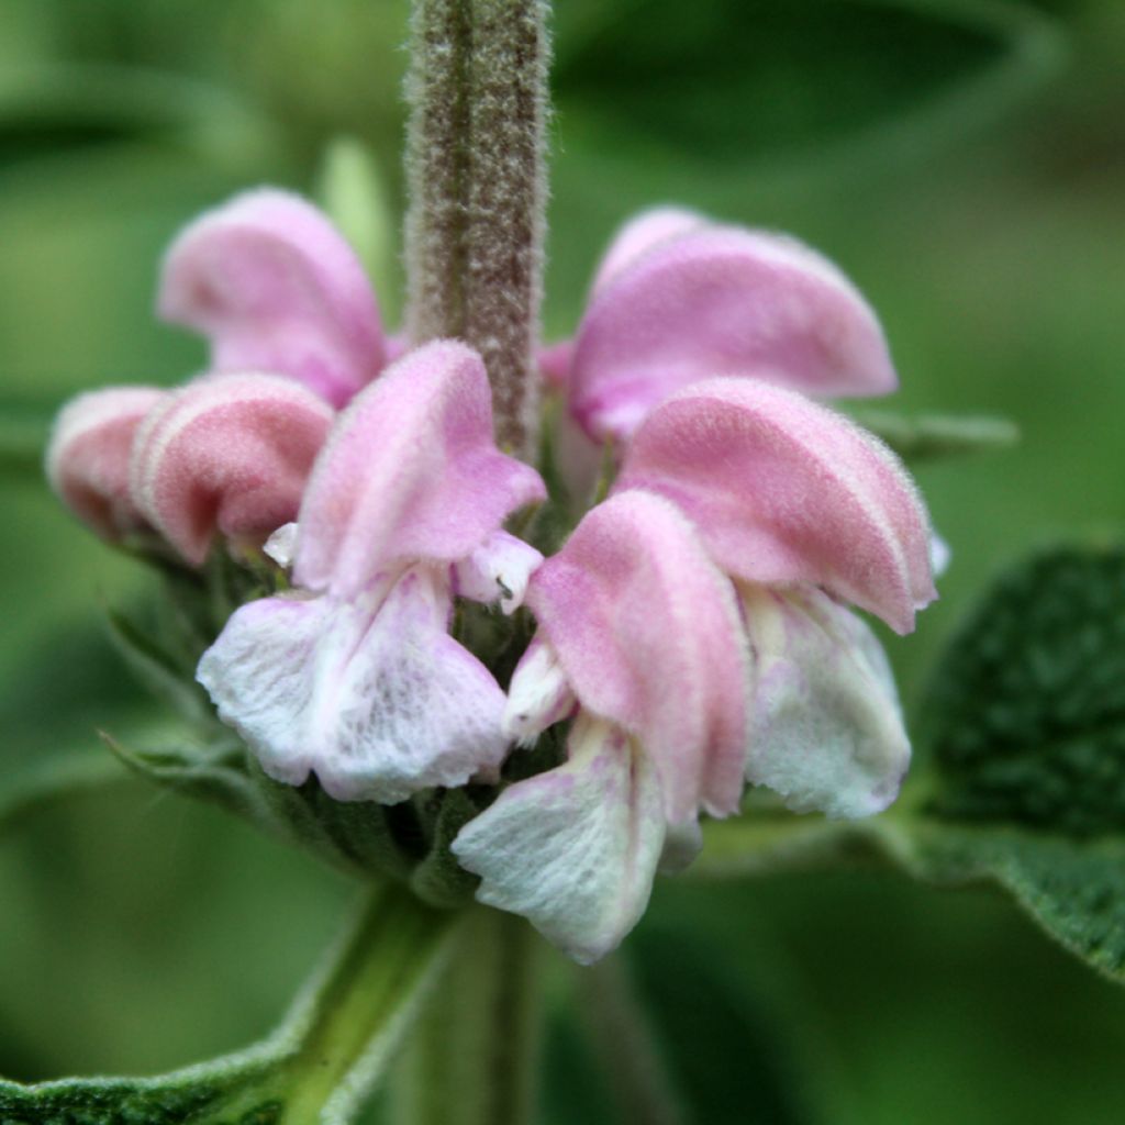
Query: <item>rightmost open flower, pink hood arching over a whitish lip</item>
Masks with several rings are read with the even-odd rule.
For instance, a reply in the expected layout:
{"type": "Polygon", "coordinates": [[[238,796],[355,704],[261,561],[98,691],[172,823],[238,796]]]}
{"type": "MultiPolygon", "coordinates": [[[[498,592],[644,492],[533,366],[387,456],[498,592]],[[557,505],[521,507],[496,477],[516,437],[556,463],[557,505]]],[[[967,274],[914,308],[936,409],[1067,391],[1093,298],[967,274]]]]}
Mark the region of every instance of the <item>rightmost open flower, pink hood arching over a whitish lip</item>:
{"type": "Polygon", "coordinates": [[[904,633],[936,596],[894,454],[794,392],[711,379],[649,415],[615,487],[674,502],[735,582],[755,657],[747,778],[801,811],[885,808],[909,741],[882,650],[840,603],[904,633]]]}

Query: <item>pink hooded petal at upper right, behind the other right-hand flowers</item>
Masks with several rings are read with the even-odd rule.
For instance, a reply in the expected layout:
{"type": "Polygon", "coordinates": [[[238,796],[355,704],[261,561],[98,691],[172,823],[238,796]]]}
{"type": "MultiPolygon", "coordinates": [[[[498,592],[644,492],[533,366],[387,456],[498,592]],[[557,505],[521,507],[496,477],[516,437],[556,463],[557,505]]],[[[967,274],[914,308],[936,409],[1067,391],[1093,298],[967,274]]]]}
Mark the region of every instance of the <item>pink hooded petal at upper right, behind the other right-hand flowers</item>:
{"type": "Polygon", "coordinates": [[[668,395],[712,376],[829,396],[897,385],[875,314],[831,262],[781,235],[704,226],[657,243],[595,295],[570,408],[592,436],[623,441],[668,395]]]}

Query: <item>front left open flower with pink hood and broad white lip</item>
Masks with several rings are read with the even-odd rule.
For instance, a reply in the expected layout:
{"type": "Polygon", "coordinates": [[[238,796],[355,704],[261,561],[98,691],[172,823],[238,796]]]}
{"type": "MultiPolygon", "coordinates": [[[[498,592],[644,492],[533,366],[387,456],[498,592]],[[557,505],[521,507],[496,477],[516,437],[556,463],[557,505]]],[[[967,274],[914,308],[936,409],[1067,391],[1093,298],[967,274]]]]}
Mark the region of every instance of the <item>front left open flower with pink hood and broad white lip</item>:
{"type": "Polygon", "coordinates": [[[494,772],[504,693],[448,634],[456,593],[519,604],[541,556],[501,524],[542,500],[493,443],[464,344],[394,363],[336,421],[313,469],[292,594],[237,610],[198,677],[278,781],[394,803],[494,772]]]}

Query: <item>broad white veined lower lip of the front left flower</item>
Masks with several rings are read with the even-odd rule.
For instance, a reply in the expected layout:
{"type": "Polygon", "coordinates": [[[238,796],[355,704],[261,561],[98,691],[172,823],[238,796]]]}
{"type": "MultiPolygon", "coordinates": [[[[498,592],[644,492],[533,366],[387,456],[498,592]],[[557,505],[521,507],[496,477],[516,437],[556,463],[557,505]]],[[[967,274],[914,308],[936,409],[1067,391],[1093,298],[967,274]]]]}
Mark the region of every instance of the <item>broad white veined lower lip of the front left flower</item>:
{"type": "Polygon", "coordinates": [[[507,740],[504,693],[446,631],[451,605],[447,568],[425,566],[354,602],[251,602],[198,678],[278,781],[312,772],[338,801],[384,804],[464,785],[500,766],[507,740]]]}

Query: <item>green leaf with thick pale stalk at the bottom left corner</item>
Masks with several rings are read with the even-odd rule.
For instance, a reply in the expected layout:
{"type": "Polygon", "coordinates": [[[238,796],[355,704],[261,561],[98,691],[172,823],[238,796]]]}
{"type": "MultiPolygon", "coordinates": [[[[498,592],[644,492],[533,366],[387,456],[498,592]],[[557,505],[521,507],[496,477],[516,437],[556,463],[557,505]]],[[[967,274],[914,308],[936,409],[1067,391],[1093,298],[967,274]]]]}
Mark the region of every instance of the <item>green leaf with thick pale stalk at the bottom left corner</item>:
{"type": "Polygon", "coordinates": [[[263,1043],[159,1078],[0,1081],[0,1123],[345,1125],[439,971],[453,917],[407,891],[377,888],[348,938],[263,1043]]]}

